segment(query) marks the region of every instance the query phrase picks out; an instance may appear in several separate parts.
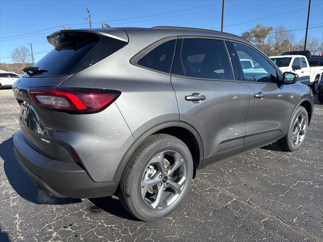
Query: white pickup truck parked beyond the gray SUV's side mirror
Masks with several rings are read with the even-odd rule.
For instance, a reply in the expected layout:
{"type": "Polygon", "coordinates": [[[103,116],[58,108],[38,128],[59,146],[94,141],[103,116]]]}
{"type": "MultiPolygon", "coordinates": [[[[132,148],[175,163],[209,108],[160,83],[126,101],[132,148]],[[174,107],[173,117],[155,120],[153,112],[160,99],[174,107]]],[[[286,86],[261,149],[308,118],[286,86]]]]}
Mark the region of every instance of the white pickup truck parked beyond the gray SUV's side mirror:
{"type": "Polygon", "coordinates": [[[323,66],[310,67],[304,55],[278,55],[270,58],[282,72],[298,74],[300,83],[310,86],[314,93],[317,92],[323,66]]]}

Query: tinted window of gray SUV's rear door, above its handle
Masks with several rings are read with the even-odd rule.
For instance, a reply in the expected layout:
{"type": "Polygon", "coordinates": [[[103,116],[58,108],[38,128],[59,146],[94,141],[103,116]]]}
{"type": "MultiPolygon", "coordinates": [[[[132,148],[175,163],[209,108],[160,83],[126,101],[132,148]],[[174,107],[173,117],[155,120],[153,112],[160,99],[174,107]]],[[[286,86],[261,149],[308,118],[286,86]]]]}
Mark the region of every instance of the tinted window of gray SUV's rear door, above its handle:
{"type": "Polygon", "coordinates": [[[224,41],[192,38],[178,41],[172,74],[201,79],[233,80],[224,41]]]}

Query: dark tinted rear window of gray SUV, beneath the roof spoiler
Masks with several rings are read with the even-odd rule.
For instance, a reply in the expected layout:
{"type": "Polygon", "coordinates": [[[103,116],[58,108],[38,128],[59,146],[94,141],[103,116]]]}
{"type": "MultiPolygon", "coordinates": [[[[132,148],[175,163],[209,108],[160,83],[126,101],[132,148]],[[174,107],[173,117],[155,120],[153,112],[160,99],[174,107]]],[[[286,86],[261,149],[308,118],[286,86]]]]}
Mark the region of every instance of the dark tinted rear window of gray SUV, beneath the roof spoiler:
{"type": "MultiPolygon", "coordinates": [[[[55,46],[34,66],[48,72],[36,77],[70,75],[82,71],[116,52],[127,43],[95,33],[64,32],[50,39],[55,46]]],[[[24,77],[28,77],[27,74],[24,77]]]]}

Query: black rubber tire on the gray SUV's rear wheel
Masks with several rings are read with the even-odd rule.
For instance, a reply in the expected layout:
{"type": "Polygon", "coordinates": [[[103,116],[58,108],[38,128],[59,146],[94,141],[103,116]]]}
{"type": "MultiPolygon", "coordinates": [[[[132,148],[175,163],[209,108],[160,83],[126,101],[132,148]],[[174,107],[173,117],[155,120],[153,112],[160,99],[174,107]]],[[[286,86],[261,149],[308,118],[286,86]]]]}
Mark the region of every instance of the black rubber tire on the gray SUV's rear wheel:
{"type": "MultiPolygon", "coordinates": [[[[160,156],[158,156],[160,157],[160,156]]],[[[164,156],[163,156],[164,157],[164,156]]],[[[165,155],[166,157],[166,155],[165,155]]],[[[159,159],[159,158],[158,158],[159,159]]],[[[165,159],[163,158],[163,164],[165,159]]],[[[169,166],[171,167],[171,166],[169,166]]],[[[173,166],[172,166],[173,167],[173,166]]],[[[179,169],[179,168],[178,168],[179,169]]],[[[179,170],[176,170],[177,172],[179,170]]],[[[174,171],[173,171],[174,172],[174,171]]],[[[183,171],[180,170],[181,174],[183,171]]],[[[175,172],[174,172],[175,173],[175,172]]],[[[159,173],[160,174],[160,173],[159,173]]],[[[172,173],[173,174],[173,173],[172,173]]],[[[161,175],[159,175],[161,176],[161,175]]],[[[193,160],[192,155],[188,147],[181,140],[177,139],[174,136],[166,134],[156,134],[149,137],[146,141],[140,145],[137,150],[134,152],[133,156],[130,158],[122,179],[120,181],[120,194],[119,198],[124,207],[135,217],[143,221],[150,221],[163,218],[168,214],[172,213],[185,199],[186,194],[189,191],[193,176],[193,160]],[[181,184],[181,191],[177,195],[177,198],[174,199],[170,205],[167,205],[165,208],[151,208],[147,206],[147,200],[145,197],[142,197],[142,181],[144,180],[145,175],[147,174],[148,168],[151,166],[151,161],[157,157],[160,152],[169,152],[175,151],[179,153],[183,159],[181,162],[185,163],[185,178],[183,184],[181,184]],[[145,202],[144,202],[145,200],[145,202]]],[[[168,176],[170,177],[170,176],[168,176]]],[[[165,178],[165,177],[164,177],[165,178]]],[[[163,178],[163,180],[164,180],[163,178]]],[[[167,177],[166,177],[167,178],[167,177]]],[[[164,181],[163,181],[164,182],[164,181]]],[[[171,180],[169,183],[171,184],[171,180]]],[[[170,186],[165,183],[166,187],[170,186]]],[[[154,186],[161,186],[160,183],[154,186]]],[[[163,183],[164,186],[164,183],[163,183]]],[[[166,188],[161,194],[164,194],[166,188]]],[[[159,187],[160,188],[160,187],[159,187]]],[[[158,189],[159,189],[158,188],[158,189]]],[[[152,189],[152,187],[151,187],[152,189]]],[[[155,188],[154,188],[155,189],[155,188]]],[[[156,189],[157,190],[157,189],[156,189]]],[[[148,190],[147,190],[148,191],[148,190]]],[[[155,190],[154,190],[155,191],[155,190]]],[[[159,191],[159,190],[158,190],[159,191]]],[[[172,191],[172,190],[169,190],[172,191]]],[[[178,190],[179,191],[179,190],[178,190]]],[[[148,194],[145,192],[145,194],[148,194]]],[[[167,195],[167,194],[166,194],[167,195]]],[[[172,195],[172,194],[170,194],[172,195]]],[[[163,196],[163,195],[161,195],[163,196]]],[[[157,198],[157,195],[156,195],[157,198]]],[[[166,197],[165,199],[167,199],[166,197]]],[[[163,199],[161,199],[163,200],[163,199]]],[[[164,201],[164,200],[163,200],[164,201]]]]}

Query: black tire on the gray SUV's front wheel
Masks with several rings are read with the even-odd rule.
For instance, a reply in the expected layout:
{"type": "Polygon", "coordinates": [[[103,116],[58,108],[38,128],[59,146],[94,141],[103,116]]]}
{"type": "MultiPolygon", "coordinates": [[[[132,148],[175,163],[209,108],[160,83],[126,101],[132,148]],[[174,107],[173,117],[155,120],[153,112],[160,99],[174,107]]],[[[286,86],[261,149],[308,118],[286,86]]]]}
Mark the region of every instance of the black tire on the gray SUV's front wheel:
{"type": "MultiPolygon", "coordinates": [[[[300,122],[298,122],[300,123],[300,122]]],[[[295,113],[293,114],[293,118],[291,119],[291,123],[289,124],[289,127],[288,127],[288,131],[287,131],[287,134],[284,138],[280,139],[278,141],[278,144],[279,146],[283,149],[283,150],[286,150],[286,151],[296,151],[298,150],[301,145],[304,143],[304,140],[305,140],[305,137],[306,137],[306,132],[307,132],[307,127],[308,127],[308,114],[307,114],[307,111],[304,107],[302,106],[299,106],[295,113]],[[295,143],[294,140],[295,139],[295,136],[293,135],[293,133],[297,133],[297,122],[299,121],[299,118],[300,116],[303,115],[304,116],[304,131],[303,131],[303,136],[302,136],[302,140],[299,141],[300,139],[298,137],[300,137],[301,135],[297,136],[297,142],[299,143],[295,143]]]]}

